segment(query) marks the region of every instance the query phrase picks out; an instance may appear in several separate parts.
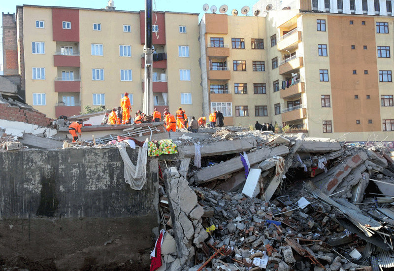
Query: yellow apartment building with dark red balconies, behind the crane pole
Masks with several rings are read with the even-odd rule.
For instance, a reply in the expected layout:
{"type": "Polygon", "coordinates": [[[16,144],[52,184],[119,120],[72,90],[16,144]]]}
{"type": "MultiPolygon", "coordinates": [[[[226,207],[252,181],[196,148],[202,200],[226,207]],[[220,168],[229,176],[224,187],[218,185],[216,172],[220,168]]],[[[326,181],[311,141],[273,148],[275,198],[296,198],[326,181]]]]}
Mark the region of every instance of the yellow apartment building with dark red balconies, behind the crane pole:
{"type": "MultiPolygon", "coordinates": [[[[155,107],[182,106],[199,116],[198,14],[158,11],[154,18],[155,107]]],[[[35,109],[72,116],[87,105],[117,107],[128,92],[132,111],[142,110],[144,11],[23,5],[12,23],[16,35],[7,38],[19,46],[4,64],[17,61],[26,102],[35,109]]]]}

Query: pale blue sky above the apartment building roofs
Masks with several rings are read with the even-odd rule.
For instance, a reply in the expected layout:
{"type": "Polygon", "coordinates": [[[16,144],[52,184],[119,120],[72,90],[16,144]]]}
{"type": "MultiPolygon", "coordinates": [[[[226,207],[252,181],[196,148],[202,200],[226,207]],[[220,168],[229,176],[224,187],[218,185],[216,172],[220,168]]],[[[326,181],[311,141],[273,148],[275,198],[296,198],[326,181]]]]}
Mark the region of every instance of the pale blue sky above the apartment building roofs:
{"type": "MultiPolygon", "coordinates": [[[[226,4],[229,7],[229,11],[226,13],[231,14],[231,10],[237,9],[238,16],[245,16],[241,15],[240,10],[243,6],[247,5],[250,8],[248,15],[253,16],[253,4],[257,1],[258,0],[245,0],[241,2],[239,0],[153,0],[153,10],[199,13],[198,19],[201,20],[204,13],[202,6],[205,3],[209,5],[209,9],[212,5],[215,5],[219,9],[221,5],[226,4]]],[[[139,11],[145,9],[145,0],[114,0],[114,2],[117,10],[139,11]]],[[[0,0],[0,11],[13,14],[15,13],[17,5],[70,6],[100,9],[107,6],[107,3],[108,0],[0,0]]],[[[0,26],[2,27],[2,20],[0,20],[0,26]]],[[[0,63],[3,63],[2,30],[0,31],[0,37],[0,63]]]]}

